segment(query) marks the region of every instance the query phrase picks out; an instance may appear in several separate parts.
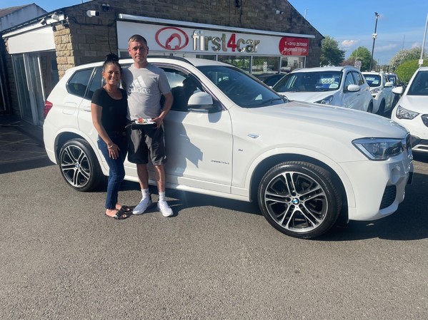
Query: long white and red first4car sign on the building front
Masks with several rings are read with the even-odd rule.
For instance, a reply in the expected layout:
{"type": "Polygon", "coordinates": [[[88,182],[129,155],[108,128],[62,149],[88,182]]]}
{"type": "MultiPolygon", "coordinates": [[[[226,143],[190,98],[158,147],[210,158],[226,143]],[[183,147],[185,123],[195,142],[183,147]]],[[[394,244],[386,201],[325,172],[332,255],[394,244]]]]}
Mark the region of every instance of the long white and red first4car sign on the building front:
{"type": "Polygon", "coordinates": [[[128,48],[130,36],[139,33],[147,39],[152,53],[154,51],[231,55],[257,53],[275,56],[279,54],[279,46],[279,51],[284,52],[283,55],[307,56],[309,48],[307,38],[269,36],[268,31],[264,35],[129,21],[118,21],[117,31],[121,50],[128,48]]]}

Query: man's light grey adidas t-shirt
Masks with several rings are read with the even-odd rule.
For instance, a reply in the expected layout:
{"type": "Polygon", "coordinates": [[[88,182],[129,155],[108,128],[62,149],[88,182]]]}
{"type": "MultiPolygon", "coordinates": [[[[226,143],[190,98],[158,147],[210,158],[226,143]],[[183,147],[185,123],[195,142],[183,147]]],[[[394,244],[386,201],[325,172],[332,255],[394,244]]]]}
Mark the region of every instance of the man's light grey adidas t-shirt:
{"type": "Polygon", "coordinates": [[[128,118],[156,118],[161,113],[161,96],[171,92],[165,72],[152,64],[122,70],[122,81],[128,95],[128,118]]]}

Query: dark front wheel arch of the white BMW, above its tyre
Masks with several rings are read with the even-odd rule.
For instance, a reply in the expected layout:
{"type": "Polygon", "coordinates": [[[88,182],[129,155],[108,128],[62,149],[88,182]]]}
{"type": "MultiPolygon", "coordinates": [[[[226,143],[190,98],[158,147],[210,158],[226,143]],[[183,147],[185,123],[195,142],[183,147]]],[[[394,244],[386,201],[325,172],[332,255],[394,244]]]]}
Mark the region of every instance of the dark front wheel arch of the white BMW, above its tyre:
{"type": "Polygon", "coordinates": [[[319,167],[322,167],[324,170],[327,170],[332,175],[332,180],[334,184],[337,186],[337,189],[340,192],[340,195],[342,197],[342,210],[340,212],[341,219],[348,220],[348,195],[347,195],[347,189],[344,186],[342,179],[339,177],[337,172],[327,163],[322,162],[321,160],[318,160],[316,158],[310,157],[309,155],[299,155],[297,153],[289,153],[289,154],[281,154],[281,155],[272,155],[268,158],[265,158],[259,164],[257,167],[255,167],[254,171],[252,172],[251,182],[250,182],[250,188],[249,188],[249,197],[251,201],[256,200],[257,201],[257,190],[259,187],[260,182],[262,181],[262,177],[264,174],[275,165],[278,165],[281,162],[286,161],[304,161],[304,162],[310,162],[314,165],[317,165],[319,167]]]}

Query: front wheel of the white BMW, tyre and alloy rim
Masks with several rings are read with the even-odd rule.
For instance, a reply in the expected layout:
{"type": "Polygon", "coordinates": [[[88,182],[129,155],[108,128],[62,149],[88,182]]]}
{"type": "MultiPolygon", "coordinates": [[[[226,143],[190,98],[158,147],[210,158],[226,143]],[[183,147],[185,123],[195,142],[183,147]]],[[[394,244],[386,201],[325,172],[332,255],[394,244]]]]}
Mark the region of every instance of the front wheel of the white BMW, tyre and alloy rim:
{"type": "Polygon", "coordinates": [[[272,226],[292,237],[314,238],[336,224],[342,198],[331,174],[309,162],[282,162],[259,184],[259,207],[272,226]]]}

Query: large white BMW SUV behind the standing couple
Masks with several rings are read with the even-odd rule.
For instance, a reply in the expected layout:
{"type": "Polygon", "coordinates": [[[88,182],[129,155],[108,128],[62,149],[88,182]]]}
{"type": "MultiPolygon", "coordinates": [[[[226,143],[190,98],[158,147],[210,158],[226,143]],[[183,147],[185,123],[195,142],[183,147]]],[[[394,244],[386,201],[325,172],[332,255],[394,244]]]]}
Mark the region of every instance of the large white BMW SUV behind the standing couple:
{"type": "MultiPolygon", "coordinates": [[[[288,102],[245,71],[196,58],[150,58],[171,83],[164,120],[167,187],[257,201],[272,226],[317,237],[338,221],[375,220],[404,200],[409,135],[376,115],[288,102]],[[190,96],[182,84],[193,82],[190,96]]],[[[123,65],[131,61],[121,61],[123,65]]],[[[66,74],[46,101],[44,143],[66,183],[91,190],[108,166],[96,147],[91,94],[101,62],[66,74]]],[[[126,180],[137,181],[125,162],[126,180]]],[[[154,171],[151,170],[154,184],[154,171]]]]}

